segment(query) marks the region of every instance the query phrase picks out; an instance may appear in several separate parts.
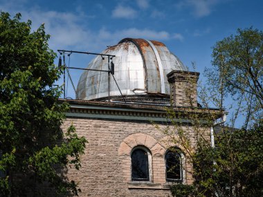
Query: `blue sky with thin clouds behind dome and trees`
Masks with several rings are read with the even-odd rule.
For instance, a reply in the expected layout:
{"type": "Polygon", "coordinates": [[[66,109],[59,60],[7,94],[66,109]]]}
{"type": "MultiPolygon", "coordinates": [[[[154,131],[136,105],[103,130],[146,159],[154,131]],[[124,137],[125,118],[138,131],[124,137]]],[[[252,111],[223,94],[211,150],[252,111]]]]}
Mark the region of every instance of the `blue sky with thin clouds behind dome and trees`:
{"type": "MultiPolygon", "coordinates": [[[[0,0],[0,10],[12,16],[21,12],[23,20],[33,21],[33,29],[44,23],[55,51],[100,53],[125,37],[154,39],[185,66],[194,62],[201,74],[211,67],[216,41],[237,28],[262,30],[263,25],[261,0],[0,0]]],[[[91,58],[71,55],[71,66],[84,68],[91,58]]],[[[72,73],[75,86],[79,76],[72,73]]]]}

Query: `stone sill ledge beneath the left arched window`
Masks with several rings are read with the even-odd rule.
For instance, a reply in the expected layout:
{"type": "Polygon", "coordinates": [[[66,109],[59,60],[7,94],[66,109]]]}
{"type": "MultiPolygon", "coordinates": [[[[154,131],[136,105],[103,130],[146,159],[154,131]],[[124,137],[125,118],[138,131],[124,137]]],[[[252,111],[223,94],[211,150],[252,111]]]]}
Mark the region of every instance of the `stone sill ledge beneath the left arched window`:
{"type": "Polygon", "coordinates": [[[170,185],[153,182],[128,182],[129,189],[170,189],[170,185]]]}

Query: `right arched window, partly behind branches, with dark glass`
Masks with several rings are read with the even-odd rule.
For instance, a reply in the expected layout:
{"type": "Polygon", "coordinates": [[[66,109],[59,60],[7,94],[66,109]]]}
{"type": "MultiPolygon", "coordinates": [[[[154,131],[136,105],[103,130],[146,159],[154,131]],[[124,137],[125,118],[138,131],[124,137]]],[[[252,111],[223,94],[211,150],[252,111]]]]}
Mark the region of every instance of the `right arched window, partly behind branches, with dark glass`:
{"type": "Polygon", "coordinates": [[[183,182],[183,154],[179,150],[167,151],[165,155],[166,180],[169,182],[183,182]]]}

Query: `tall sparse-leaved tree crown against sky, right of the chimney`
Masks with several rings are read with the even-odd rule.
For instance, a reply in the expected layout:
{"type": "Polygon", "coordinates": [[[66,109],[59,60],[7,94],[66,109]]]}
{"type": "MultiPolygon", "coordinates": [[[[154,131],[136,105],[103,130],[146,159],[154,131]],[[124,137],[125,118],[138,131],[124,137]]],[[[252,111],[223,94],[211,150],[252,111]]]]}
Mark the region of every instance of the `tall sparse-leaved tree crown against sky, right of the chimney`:
{"type": "MultiPolygon", "coordinates": [[[[262,119],[263,109],[263,32],[257,29],[238,29],[231,35],[217,41],[212,51],[213,68],[206,70],[209,91],[218,91],[224,99],[232,97],[237,115],[244,115],[244,126],[262,119]]],[[[214,97],[216,100],[218,97],[214,97]]]]}

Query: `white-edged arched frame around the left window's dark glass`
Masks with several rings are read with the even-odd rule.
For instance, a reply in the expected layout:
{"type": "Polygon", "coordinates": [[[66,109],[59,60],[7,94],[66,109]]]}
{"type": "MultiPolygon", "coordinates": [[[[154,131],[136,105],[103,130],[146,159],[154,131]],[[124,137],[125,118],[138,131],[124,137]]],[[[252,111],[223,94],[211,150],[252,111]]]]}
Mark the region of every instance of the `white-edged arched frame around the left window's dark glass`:
{"type": "Polygon", "coordinates": [[[131,149],[131,153],[130,153],[130,160],[131,160],[131,182],[152,182],[152,153],[151,151],[149,151],[149,149],[147,149],[147,147],[144,146],[136,146],[133,149],[131,149]],[[148,159],[148,174],[149,174],[149,180],[133,180],[132,178],[132,160],[131,160],[131,155],[132,153],[134,153],[134,151],[138,150],[138,149],[142,149],[143,151],[145,151],[147,153],[147,159],[148,159]]]}

